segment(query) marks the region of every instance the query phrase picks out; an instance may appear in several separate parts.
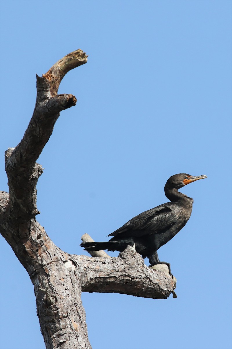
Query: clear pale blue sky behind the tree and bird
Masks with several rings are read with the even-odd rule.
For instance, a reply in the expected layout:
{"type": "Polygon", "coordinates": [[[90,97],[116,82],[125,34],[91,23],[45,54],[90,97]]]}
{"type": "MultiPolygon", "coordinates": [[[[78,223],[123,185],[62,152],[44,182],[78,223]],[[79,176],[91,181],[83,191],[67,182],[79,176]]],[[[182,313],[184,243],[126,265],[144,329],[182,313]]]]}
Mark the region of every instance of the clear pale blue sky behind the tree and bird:
{"type": "MultiPolygon", "coordinates": [[[[96,241],[167,199],[179,172],[207,174],[184,229],[160,248],[178,298],[82,294],[94,349],[229,349],[231,340],[231,1],[1,1],[0,190],[42,75],[78,48],[63,111],[38,162],[38,221],[62,250],[96,241]]],[[[117,256],[117,253],[111,253],[117,256]]],[[[148,260],[145,260],[148,265],[148,260]]],[[[32,283],[0,238],[1,348],[45,348],[32,283]]]]}

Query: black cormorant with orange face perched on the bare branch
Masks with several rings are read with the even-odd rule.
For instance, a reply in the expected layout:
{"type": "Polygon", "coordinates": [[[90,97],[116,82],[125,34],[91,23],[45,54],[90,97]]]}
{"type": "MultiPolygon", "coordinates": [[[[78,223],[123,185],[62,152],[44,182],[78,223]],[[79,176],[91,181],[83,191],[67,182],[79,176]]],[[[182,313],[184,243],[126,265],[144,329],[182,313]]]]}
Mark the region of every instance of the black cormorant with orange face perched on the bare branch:
{"type": "Polygon", "coordinates": [[[171,176],[165,184],[164,191],[170,202],[163,203],[132,218],[121,228],[108,236],[109,242],[88,242],[80,246],[85,251],[124,251],[127,245],[135,244],[136,251],[147,257],[151,265],[165,263],[170,271],[170,264],[160,262],[158,248],[172,239],[187,223],[192,213],[193,199],[178,192],[179,188],[198,179],[207,178],[179,173],[171,176]]]}

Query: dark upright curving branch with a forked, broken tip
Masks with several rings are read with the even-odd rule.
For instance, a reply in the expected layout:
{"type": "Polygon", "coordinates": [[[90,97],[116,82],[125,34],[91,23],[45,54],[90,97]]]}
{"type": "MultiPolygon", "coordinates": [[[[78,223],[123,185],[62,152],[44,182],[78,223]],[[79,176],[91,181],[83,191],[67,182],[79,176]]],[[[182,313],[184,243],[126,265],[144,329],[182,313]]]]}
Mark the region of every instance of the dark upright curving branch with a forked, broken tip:
{"type": "Polygon", "coordinates": [[[42,167],[35,161],[49,140],[59,113],[77,102],[73,95],[56,93],[64,75],[86,62],[86,54],[77,50],[59,60],[42,77],[37,76],[37,100],[33,116],[21,142],[16,148],[8,149],[5,156],[12,219],[16,217],[15,210],[22,221],[39,213],[35,187],[42,167]]]}

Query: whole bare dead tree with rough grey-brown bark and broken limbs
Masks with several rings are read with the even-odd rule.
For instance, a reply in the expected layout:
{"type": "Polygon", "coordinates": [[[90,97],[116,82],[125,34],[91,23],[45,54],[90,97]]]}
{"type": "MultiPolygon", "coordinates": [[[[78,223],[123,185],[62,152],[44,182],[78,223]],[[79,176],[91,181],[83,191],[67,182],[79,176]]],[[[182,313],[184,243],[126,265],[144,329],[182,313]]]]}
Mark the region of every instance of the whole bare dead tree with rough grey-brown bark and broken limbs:
{"type": "MultiPolygon", "coordinates": [[[[91,348],[81,292],[118,292],[138,297],[167,298],[175,279],[144,265],[128,246],[117,258],[96,252],[95,257],[71,255],[55,246],[36,220],[36,163],[62,110],[77,102],[71,94],[58,95],[69,70],[87,62],[77,50],[37,76],[33,116],[21,142],[5,153],[9,193],[0,192],[0,232],[27,270],[34,285],[37,313],[47,349],[91,348]]],[[[82,239],[85,239],[83,236],[82,239]]]]}

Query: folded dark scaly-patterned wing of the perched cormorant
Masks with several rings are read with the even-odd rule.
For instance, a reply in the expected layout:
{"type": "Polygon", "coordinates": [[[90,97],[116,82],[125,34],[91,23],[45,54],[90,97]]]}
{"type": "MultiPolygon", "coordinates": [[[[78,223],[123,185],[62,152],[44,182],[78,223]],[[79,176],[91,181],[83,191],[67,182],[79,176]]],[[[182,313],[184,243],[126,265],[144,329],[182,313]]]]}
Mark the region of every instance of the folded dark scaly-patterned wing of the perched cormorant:
{"type": "Polygon", "coordinates": [[[169,206],[160,205],[145,211],[138,216],[132,218],[121,228],[115,230],[108,236],[120,237],[140,237],[147,234],[161,233],[163,230],[170,228],[179,217],[178,210],[174,210],[169,206]]]}

